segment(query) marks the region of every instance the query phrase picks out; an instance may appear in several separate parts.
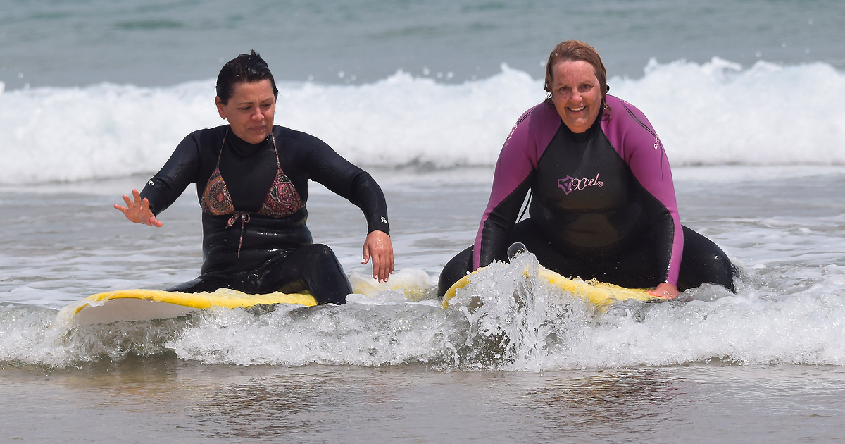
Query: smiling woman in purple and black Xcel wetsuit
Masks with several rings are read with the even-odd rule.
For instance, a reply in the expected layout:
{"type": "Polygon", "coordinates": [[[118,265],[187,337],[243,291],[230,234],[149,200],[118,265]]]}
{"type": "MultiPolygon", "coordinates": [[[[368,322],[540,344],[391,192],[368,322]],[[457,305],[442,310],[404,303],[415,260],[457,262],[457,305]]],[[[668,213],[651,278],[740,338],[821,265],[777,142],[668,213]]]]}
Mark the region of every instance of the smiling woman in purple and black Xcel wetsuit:
{"type": "Polygon", "coordinates": [[[709,239],[680,224],[672,172],[646,116],[608,96],[595,49],[564,41],[548,58],[549,98],[517,121],[497,162],[475,244],[440,274],[439,294],[521,242],[564,276],[597,278],[673,299],[734,267],[709,239]],[[530,217],[515,223],[528,189],[530,217]]]}

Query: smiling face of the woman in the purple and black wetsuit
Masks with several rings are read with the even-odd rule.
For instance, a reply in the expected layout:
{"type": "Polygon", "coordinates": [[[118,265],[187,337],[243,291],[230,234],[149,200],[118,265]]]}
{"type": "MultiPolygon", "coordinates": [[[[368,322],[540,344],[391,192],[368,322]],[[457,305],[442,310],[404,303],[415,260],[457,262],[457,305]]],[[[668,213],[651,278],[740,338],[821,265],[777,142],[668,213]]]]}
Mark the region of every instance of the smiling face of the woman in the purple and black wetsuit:
{"type": "Polygon", "coordinates": [[[602,107],[602,87],[590,63],[561,61],[552,69],[552,102],[573,133],[583,133],[602,107]]]}

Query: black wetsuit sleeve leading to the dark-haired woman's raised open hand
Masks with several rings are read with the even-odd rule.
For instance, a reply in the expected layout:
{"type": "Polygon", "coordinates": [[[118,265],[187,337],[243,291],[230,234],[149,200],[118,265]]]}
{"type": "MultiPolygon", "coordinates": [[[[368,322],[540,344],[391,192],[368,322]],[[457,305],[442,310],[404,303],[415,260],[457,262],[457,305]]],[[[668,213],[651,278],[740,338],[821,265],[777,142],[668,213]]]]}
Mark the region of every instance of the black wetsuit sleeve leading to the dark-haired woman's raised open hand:
{"type": "Polygon", "coordinates": [[[141,190],[141,199],[150,200],[150,211],[156,216],[171,206],[188,184],[196,181],[199,170],[199,131],[188,134],[177,145],[170,159],[141,190]]]}

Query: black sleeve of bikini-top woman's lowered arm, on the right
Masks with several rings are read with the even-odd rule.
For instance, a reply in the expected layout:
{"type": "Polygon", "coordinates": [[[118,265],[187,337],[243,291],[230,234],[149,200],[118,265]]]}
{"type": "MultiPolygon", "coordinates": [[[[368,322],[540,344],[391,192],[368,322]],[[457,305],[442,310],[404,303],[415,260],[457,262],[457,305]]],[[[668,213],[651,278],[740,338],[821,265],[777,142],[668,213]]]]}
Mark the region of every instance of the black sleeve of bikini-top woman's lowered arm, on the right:
{"type": "Polygon", "coordinates": [[[309,178],[360,208],[367,218],[367,233],[379,230],[390,234],[387,202],[379,184],[369,173],[346,161],[324,141],[308,134],[303,134],[303,137],[310,147],[303,165],[309,178]]]}

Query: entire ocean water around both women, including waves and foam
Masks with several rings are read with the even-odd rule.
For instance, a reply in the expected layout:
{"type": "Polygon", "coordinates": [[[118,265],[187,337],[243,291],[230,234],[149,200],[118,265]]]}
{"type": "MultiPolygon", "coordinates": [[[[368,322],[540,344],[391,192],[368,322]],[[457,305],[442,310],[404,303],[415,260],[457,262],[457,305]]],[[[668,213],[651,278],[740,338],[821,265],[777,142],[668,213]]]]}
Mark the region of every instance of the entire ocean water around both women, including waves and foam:
{"type": "MultiPolygon", "coordinates": [[[[843,19],[833,1],[0,0],[0,441],[842,438],[843,19]],[[739,266],[736,294],[601,314],[523,277],[526,256],[473,282],[478,310],[430,299],[567,38],[650,118],[681,220],[739,266]],[[196,276],[193,189],[161,228],[112,205],[221,124],[213,78],[250,47],[276,123],[381,184],[399,272],[344,306],[63,320],[92,293],[196,276]]],[[[368,282],[360,211],[311,191],[313,237],[368,282]]]]}

